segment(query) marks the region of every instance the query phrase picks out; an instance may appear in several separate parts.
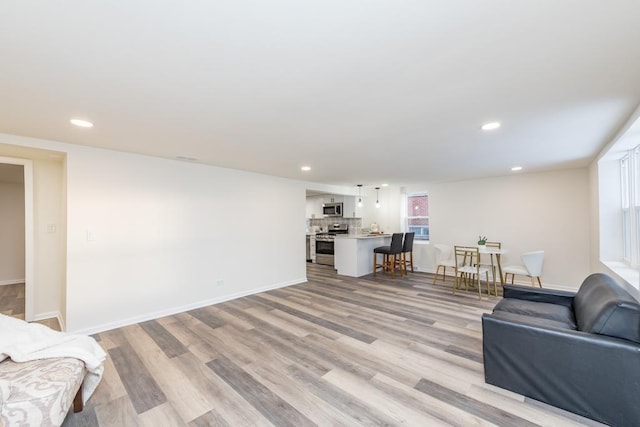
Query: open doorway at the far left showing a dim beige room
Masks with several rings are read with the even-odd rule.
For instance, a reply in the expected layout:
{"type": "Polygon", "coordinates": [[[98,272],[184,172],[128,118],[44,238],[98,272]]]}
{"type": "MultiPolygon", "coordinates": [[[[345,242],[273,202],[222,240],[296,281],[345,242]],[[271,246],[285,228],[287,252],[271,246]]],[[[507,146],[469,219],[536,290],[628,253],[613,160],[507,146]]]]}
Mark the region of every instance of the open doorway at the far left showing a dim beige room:
{"type": "Polygon", "coordinates": [[[10,163],[0,163],[0,312],[28,319],[26,297],[31,296],[31,289],[27,290],[30,245],[26,218],[31,213],[25,201],[29,200],[26,184],[30,183],[27,175],[31,168],[27,160],[2,160],[10,163]]]}

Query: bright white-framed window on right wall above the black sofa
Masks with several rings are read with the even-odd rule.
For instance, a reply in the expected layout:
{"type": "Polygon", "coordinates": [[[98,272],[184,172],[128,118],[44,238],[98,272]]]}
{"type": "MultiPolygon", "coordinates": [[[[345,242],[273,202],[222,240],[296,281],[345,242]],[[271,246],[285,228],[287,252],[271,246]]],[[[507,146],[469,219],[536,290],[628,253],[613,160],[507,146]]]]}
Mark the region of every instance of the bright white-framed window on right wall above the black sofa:
{"type": "Polygon", "coordinates": [[[624,261],[640,265],[640,146],[620,159],[620,209],[624,261]]]}

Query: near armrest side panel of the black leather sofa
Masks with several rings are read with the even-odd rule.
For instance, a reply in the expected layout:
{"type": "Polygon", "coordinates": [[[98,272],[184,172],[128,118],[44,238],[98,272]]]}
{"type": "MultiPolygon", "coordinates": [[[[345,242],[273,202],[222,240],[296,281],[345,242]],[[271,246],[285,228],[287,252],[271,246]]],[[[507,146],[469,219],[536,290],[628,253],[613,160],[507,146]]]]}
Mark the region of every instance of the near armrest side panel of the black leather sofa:
{"type": "Polygon", "coordinates": [[[640,419],[640,344],[482,316],[485,381],[616,426],[640,419]]]}

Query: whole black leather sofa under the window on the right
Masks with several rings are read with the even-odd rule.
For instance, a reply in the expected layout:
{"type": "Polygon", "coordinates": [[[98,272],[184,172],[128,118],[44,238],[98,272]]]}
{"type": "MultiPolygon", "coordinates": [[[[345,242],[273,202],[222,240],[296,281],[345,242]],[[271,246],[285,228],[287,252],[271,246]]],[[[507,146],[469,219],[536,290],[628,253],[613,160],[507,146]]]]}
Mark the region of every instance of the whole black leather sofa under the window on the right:
{"type": "Polygon", "coordinates": [[[505,286],[482,316],[485,381],[613,426],[640,425],[640,293],[605,274],[577,293],[505,286]]]}

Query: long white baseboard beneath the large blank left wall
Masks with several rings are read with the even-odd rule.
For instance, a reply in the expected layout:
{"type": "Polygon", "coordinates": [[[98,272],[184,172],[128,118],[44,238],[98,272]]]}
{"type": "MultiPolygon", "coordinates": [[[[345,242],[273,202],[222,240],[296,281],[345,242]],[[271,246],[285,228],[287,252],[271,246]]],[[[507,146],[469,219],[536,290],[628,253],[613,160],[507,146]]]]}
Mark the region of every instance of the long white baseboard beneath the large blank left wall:
{"type": "MultiPolygon", "coordinates": [[[[250,291],[238,292],[234,294],[224,295],[218,298],[211,298],[208,300],[198,301],[192,304],[187,304],[179,307],[172,307],[165,310],[155,311],[152,313],[142,314],[140,316],[130,317],[128,319],[118,320],[116,322],[104,323],[102,325],[92,326],[90,328],[79,329],[77,331],[71,331],[75,334],[93,335],[111,329],[122,328],[124,326],[134,325],[136,323],[146,322],[148,320],[158,319],[160,317],[171,316],[177,313],[184,313],[185,311],[195,310],[197,308],[206,307],[208,305],[220,304],[225,301],[230,301],[236,298],[246,297],[249,295],[258,294],[260,292],[266,292],[273,289],[284,288],[287,286],[299,285],[300,283],[307,282],[307,278],[301,278],[291,280],[289,282],[278,283],[275,285],[265,286],[259,289],[252,289],[250,291]]],[[[62,325],[62,324],[61,324],[62,325]]]]}

